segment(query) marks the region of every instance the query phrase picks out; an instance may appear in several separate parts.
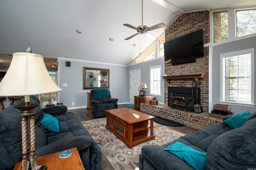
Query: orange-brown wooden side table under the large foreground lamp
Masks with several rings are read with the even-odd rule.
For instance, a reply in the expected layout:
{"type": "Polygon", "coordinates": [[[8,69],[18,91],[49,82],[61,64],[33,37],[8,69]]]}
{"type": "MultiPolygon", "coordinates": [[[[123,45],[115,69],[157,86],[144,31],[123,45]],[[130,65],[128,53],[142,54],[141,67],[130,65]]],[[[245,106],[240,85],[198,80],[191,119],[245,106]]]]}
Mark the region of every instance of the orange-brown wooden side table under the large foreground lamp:
{"type": "MultiPolygon", "coordinates": [[[[38,165],[47,165],[47,170],[85,170],[82,160],[78,154],[77,148],[71,148],[72,155],[68,158],[60,158],[60,152],[39,156],[38,165]]],[[[16,163],[14,170],[21,170],[22,162],[16,163]]]]}

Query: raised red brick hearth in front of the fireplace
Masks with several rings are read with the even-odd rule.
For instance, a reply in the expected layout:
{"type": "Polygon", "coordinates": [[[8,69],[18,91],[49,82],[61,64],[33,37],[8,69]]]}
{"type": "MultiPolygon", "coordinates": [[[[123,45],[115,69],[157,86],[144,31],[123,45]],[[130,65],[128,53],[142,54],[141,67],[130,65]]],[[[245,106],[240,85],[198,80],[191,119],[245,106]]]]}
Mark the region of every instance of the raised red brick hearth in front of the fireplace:
{"type": "Polygon", "coordinates": [[[165,105],[149,105],[140,103],[140,111],[151,116],[159,116],[165,119],[169,119],[198,130],[202,130],[215,123],[222,122],[222,119],[210,117],[210,114],[208,113],[196,114],[194,112],[172,109],[165,105]]]}

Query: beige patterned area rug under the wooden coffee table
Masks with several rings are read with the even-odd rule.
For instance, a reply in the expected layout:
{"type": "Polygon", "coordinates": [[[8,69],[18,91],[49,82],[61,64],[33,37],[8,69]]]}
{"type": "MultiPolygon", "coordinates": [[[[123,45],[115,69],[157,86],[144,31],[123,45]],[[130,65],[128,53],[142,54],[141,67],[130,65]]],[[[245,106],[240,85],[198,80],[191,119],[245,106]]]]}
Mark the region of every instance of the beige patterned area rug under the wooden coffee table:
{"type": "Polygon", "coordinates": [[[82,121],[82,124],[115,170],[138,169],[142,146],[148,144],[163,145],[185,135],[154,122],[155,140],[148,140],[129,149],[124,142],[105,128],[106,118],[82,121]]]}

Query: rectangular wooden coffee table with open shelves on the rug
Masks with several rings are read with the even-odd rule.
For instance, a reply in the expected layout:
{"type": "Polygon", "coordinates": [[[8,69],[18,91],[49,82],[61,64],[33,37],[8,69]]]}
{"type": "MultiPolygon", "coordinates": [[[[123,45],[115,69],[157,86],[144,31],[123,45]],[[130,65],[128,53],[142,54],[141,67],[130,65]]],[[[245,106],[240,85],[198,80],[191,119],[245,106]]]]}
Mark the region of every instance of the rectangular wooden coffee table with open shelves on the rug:
{"type": "Polygon", "coordinates": [[[105,127],[120,138],[128,148],[155,139],[153,134],[153,119],[155,117],[128,108],[110,109],[106,112],[105,127]],[[150,125],[148,124],[149,120],[150,125]]]}

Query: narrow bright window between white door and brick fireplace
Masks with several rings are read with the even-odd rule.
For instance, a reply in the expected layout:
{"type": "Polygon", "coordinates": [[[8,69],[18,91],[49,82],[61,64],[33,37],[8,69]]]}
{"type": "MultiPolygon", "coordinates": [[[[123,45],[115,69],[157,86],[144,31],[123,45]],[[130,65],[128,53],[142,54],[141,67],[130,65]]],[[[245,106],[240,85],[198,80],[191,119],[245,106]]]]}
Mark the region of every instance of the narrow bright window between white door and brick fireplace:
{"type": "Polygon", "coordinates": [[[150,94],[161,95],[161,65],[150,67],[150,94]]]}

